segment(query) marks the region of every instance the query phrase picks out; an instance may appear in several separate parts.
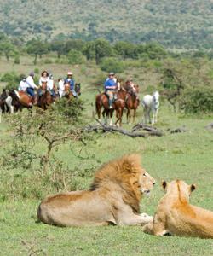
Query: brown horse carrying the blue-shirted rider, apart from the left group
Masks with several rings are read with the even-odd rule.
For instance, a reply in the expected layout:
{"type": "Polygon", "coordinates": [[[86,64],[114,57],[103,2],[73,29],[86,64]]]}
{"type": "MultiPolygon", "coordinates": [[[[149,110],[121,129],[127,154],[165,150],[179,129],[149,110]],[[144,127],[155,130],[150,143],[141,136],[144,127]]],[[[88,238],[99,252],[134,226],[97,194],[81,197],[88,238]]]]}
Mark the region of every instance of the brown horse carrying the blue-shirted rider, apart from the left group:
{"type": "Polygon", "coordinates": [[[117,120],[115,122],[116,125],[122,125],[122,117],[124,113],[125,107],[125,97],[126,97],[126,90],[121,87],[116,94],[117,98],[112,104],[112,109],[109,108],[109,100],[106,93],[101,93],[96,96],[95,98],[95,108],[96,113],[98,115],[98,119],[101,121],[101,108],[103,107],[104,110],[102,112],[103,117],[105,118],[105,124],[107,125],[107,119],[110,117],[110,125],[112,125],[112,116],[114,110],[116,110],[116,117],[117,120]]]}

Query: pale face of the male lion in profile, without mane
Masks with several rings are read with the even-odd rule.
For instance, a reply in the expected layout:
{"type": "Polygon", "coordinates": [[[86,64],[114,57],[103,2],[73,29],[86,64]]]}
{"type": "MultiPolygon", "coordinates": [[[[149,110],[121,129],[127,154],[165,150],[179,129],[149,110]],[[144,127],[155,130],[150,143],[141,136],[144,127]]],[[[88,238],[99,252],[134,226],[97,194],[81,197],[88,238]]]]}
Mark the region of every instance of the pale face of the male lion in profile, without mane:
{"type": "Polygon", "coordinates": [[[141,175],[139,177],[139,185],[141,194],[148,195],[150,190],[153,189],[155,180],[151,177],[145,170],[141,170],[141,175]]]}

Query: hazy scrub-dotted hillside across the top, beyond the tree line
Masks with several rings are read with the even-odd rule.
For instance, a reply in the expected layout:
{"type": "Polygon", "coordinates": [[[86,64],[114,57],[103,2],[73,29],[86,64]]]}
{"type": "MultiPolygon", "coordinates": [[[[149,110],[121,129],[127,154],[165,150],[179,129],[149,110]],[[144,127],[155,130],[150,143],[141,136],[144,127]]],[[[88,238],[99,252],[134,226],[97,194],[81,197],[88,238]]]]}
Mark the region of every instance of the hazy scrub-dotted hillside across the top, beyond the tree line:
{"type": "Polygon", "coordinates": [[[210,0],[0,0],[0,32],[26,41],[107,38],[166,48],[210,49],[210,0]]]}

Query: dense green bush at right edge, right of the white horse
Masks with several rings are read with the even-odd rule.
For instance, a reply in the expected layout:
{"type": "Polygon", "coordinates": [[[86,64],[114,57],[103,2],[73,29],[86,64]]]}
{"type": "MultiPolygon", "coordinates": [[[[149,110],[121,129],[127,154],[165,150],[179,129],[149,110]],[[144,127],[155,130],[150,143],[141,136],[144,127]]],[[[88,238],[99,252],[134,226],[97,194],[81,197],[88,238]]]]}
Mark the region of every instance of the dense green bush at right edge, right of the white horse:
{"type": "Polygon", "coordinates": [[[213,112],[213,89],[199,86],[184,90],[180,98],[180,108],[185,113],[213,112]]]}

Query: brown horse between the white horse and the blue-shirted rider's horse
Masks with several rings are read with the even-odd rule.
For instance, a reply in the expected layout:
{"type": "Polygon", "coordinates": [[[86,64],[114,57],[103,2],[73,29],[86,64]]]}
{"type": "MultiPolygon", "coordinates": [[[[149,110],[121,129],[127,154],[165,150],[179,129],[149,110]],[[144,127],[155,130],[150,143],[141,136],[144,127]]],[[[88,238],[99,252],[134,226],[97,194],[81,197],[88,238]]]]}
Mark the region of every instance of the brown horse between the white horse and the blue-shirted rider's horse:
{"type": "Polygon", "coordinates": [[[128,92],[126,97],[126,119],[127,123],[131,124],[131,118],[133,117],[133,123],[135,122],[136,109],[138,108],[140,102],[137,94],[139,93],[139,85],[135,85],[135,91],[131,90],[128,92]],[[133,110],[133,116],[131,115],[131,110],[133,110]]]}

